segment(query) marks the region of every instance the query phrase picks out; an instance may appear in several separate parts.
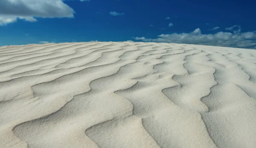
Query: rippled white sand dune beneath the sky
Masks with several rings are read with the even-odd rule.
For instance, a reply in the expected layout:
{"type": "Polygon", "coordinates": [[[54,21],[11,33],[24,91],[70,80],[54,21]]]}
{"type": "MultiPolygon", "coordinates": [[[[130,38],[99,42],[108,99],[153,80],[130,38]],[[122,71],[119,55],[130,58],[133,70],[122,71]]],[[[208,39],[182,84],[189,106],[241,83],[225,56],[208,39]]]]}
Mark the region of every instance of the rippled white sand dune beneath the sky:
{"type": "Polygon", "coordinates": [[[0,47],[0,148],[256,148],[256,50],[0,47]]]}

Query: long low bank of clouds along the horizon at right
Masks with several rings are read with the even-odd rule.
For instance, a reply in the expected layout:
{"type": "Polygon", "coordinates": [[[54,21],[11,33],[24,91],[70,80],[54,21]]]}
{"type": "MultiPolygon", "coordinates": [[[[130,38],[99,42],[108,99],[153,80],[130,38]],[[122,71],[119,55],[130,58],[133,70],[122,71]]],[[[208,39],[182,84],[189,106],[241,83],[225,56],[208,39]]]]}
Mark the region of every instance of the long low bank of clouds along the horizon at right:
{"type": "Polygon", "coordinates": [[[216,34],[202,34],[200,28],[189,33],[160,34],[157,38],[134,37],[144,42],[186,43],[210,46],[227,46],[237,48],[255,48],[256,31],[253,32],[218,32],[216,34]]]}

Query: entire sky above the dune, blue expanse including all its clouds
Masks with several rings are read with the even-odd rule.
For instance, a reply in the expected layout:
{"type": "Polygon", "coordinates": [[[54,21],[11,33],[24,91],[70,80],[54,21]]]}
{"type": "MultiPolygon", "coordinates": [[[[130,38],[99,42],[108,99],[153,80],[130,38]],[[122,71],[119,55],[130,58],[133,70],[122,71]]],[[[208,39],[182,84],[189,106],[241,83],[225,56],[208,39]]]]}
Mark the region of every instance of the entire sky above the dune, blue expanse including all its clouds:
{"type": "Polygon", "coordinates": [[[0,0],[0,46],[145,41],[256,48],[255,0],[0,0]]]}

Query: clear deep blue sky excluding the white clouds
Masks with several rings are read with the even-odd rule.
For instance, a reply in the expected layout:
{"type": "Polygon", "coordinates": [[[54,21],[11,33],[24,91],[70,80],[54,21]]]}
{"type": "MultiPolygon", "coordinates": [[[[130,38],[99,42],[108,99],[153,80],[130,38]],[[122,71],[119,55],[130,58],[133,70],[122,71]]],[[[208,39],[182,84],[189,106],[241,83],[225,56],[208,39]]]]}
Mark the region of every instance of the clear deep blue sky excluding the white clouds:
{"type": "Polygon", "coordinates": [[[241,26],[241,32],[256,30],[255,0],[69,0],[64,3],[76,12],[74,18],[35,17],[36,22],[17,20],[5,24],[0,26],[0,46],[40,41],[155,39],[160,34],[189,33],[196,28],[202,34],[232,33],[224,28],[234,25],[241,26]],[[110,11],[125,15],[112,16],[110,11]],[[168,27],[169,23],[174,26],[168,27]],[[209,30],[216,26],[220,28],[209,30]]]}

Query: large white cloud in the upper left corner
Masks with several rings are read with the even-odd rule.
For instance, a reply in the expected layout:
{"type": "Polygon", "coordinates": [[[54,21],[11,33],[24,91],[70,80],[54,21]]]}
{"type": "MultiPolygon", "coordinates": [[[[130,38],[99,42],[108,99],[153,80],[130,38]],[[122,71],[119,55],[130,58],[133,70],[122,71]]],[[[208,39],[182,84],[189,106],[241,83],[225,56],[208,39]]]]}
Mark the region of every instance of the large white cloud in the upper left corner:
{"type": "Polygon", "coordinates": [[[0,26],[14,23],[17,19],[36,22],[35,17],[74,17],[74,13],[63,0],[0,0],[0,26]]]}

